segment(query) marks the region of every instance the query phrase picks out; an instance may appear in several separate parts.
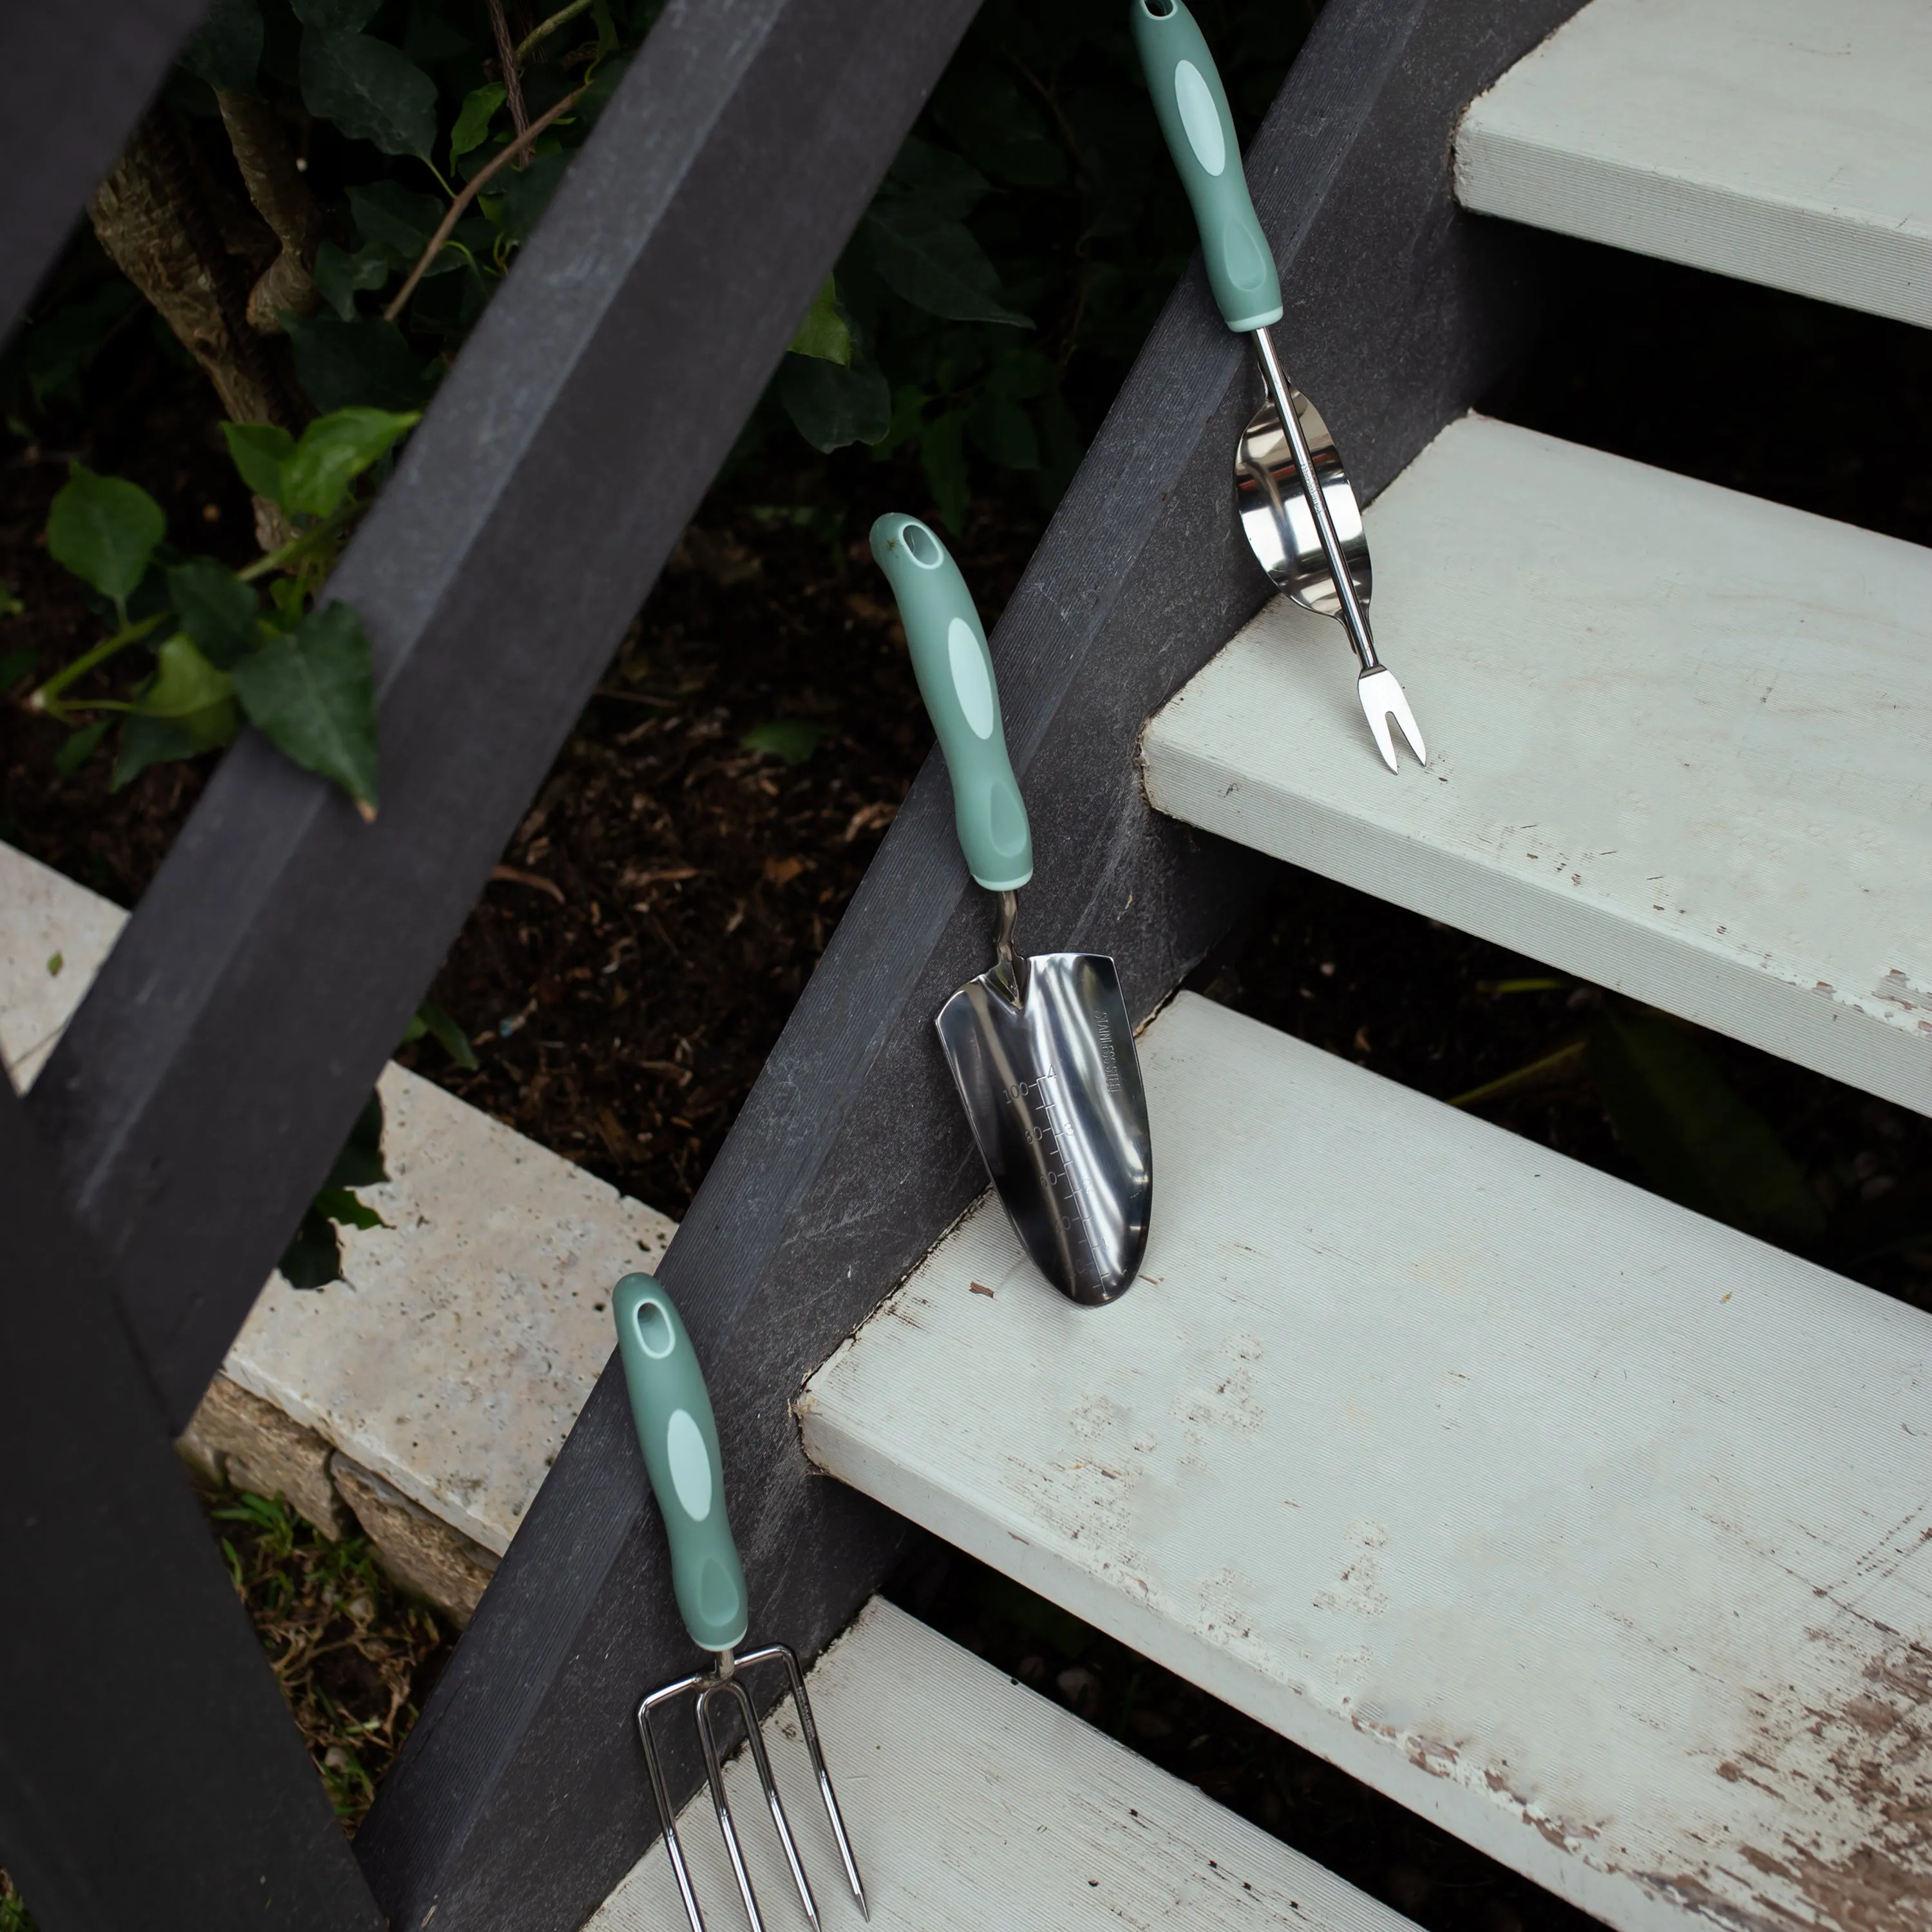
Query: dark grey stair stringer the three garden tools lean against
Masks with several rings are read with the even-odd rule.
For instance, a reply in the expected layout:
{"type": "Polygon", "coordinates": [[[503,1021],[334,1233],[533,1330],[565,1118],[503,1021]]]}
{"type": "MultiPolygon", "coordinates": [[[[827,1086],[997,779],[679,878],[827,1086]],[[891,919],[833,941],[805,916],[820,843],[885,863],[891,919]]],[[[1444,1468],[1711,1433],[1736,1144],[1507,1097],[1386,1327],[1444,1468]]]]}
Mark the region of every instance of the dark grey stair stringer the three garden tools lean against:
{"type": "MultiPolygon", "coordinates": [[[[1250,156],[1289,294],[1279,340],[1374,495],[1528,319],[1501,230],[1449,197],[1459,108],[1578,0],[1331,0],[1250,156]]],[[[1146,717],[1260,605],[1229,516],[1250,361],[1177,292],[993,638],[1036,833],[1028,947],[1113,951],[1150,1012],[1254,881],[1148,811],[1146,717]]],[[[817,1650],[895,1524],[810,1474],[788,1395],[981,1188],[931,1034],[987,956],[937,763],[663,1264],[711,1374],[753,1634],[817,1650]]],[[[398,1928],[568,1932],[645,1847],[639,1689],[692,1667],[616,1370],[518,1532],[357,1849],[398,1928]]]]}

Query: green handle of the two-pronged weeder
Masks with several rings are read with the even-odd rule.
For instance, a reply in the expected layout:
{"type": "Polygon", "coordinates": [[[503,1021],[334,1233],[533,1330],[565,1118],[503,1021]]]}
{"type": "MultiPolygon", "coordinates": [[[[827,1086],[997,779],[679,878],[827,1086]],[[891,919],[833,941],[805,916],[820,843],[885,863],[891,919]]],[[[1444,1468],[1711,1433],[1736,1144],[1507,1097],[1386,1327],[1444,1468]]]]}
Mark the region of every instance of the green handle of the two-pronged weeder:
{"type": "Polygon", "coordinates": [[[1235,120],[1213,54],[1182,0],[1128,0],[1167,153],[1194,203],[1208,284],[1229,328],[1281,321],[1281,282],[1240,172],[1235,120]]]}

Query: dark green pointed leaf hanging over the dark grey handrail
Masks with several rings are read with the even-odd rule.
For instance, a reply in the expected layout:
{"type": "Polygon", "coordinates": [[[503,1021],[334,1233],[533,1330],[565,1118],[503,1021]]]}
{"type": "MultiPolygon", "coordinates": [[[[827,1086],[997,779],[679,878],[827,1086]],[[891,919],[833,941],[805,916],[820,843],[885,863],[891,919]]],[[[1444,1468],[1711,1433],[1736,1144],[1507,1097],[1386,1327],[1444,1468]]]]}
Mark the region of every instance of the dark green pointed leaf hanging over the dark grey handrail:
{"type": "Polygon", "coordinates": [[[375,817],[375,670],[348,605],[311,611],[243,657],[234,680],[242,709],[274,746],[375,817]]]}

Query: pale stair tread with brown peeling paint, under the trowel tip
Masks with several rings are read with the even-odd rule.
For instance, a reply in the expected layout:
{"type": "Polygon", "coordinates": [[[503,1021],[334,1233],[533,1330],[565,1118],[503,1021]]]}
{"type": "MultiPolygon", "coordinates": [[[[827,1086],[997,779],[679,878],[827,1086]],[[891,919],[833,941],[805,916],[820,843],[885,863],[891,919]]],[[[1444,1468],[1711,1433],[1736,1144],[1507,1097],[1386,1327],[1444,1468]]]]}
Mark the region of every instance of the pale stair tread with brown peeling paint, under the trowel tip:
{"type": "Polygon", "coordinates": [[[1142,1281],[981,1202],[813,1461],[1629,1932],[1924,1932],[1932,1318],[1194,995],[1142,1065],[1142,1281]]]}

